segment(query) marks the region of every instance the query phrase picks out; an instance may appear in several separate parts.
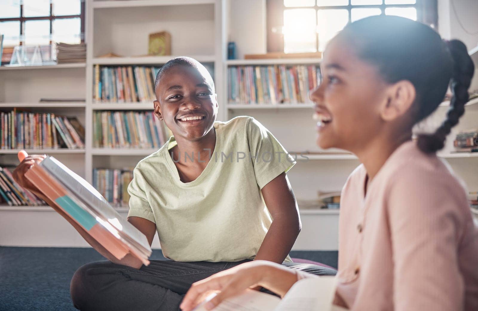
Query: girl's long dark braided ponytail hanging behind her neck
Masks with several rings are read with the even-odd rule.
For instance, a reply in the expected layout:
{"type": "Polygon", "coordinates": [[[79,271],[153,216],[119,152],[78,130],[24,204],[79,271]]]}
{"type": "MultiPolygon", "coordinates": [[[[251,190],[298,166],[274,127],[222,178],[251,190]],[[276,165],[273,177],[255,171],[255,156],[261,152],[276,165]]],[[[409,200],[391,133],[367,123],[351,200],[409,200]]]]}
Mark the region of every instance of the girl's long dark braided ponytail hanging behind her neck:
{"type": "Polygon", "coordinates": [[[453,74],[450,80],[453,96],[450,100],[450,108],[446,114],[446,119],[435,133],[418,136],[418,147],[425,153],[435,153],[444,147],[446,136],[465,112],[468,88],[475,72],[473,61],[463,42],[451,40],[447,42],[447,46],[453,59],[453,74]]]}

